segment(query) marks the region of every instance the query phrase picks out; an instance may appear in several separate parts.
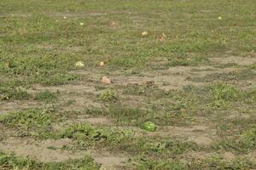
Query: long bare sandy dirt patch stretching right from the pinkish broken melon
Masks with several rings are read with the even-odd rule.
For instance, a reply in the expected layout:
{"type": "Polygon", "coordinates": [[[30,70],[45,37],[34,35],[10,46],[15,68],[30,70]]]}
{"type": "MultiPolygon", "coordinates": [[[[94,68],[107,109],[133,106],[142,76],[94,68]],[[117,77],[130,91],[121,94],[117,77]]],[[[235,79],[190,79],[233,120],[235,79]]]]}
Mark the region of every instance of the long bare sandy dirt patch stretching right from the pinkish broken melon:
{"type": "Polygon", "coordinates": [[[127,84],[142,85],[145,82],[154,82],[154,84],[163,90],[183,89],[188,85],[205,86],[206,82],[193,82],[193,77],[206,77],[212,73],[222,73],[225,71],[234,71],[233,68],[217,69],[212,66],[177,66],[167,70],[148,71],[143,77],[139,76],[110,76],[113,84],[125,86],[127,84]]]}

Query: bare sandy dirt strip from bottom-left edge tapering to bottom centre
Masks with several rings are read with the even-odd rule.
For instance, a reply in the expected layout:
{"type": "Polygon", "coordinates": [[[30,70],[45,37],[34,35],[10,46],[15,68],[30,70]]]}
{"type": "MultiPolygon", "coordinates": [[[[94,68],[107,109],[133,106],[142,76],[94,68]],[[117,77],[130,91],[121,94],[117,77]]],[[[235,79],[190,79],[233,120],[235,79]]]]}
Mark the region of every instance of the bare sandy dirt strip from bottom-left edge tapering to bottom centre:
{"type": "Polygon", "coordinates": [[[31,157],[43,162],[61,162],[69,159],[79,159],[83,156],[91,156],[96,163],[107,169],[116,169],[116,166],[124,165],[125,156],[113,155],[107,151],[97,150],[61,150],[63,146],[73,146],[71,139],[47,139],[37,141],[35,139],[9,138],[1,141],[0,150],[14,152],[17,156],[31,157]]]}

